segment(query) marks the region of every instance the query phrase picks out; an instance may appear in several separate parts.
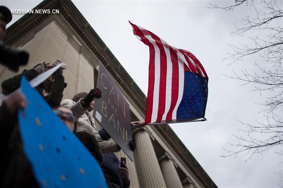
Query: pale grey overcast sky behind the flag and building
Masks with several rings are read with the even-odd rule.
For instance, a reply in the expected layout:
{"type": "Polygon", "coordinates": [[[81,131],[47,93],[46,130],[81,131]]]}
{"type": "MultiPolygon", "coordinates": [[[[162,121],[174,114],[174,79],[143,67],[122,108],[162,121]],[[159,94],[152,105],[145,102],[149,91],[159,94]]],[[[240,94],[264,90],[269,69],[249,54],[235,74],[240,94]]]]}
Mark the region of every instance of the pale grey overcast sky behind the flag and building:
{"type": "MultiPolygon", "coordinates": [[[[10,9],[33,8],[41,1],[1,1],[10,9]]],[[[219,187],[279,187],[275,172],[282,170],[282,156],[275,151],[282,146],[271,148],[262,155],[241,153],[237,158],[221,158],[228,143],[236,143],[232,134],[238,128],[244,129],[240,121],[255,123],[264,121],[258,114],[269,92],[261,95],[253,90],[254,85],[240,86],[242,82],[227,78],[247,69],[257,72],[254,62],[261,62],[259,56],[249,56],[241,62],[228,66],[232,60],[222,62],[231,49],[227,44],[253,44],[247,37],[230,36],[235,24],[241,18],[254,13],[253,7],[241,6],[226,12],[209,9],[209,3],[219,6],[234,1],[73,1],[92,28],[119,60],[140,89],[147,95],[148,46],[139,41],[128,23],[152,31],[169,45],[191,51],[205,68],[208,82],[208,121],[172,124],[170,127],[186,145],[198,163],[219,187]]],[[[282,7],[282,1],[278,1],[282,7]]],[[[255,1],[256,6],[259,5],[255,1]]],[[[22,15],[13,15],[16,21],[22,15]]],[[[282,22],[279,23],[282,26],[282,22]]],[[[249,35],[255,35],[252,31],[249,35]]],[[[282,114],[281,114],[282,118],[282,114]]],[[[242,134],[246,136],[246,134],[242,134]]]]}

